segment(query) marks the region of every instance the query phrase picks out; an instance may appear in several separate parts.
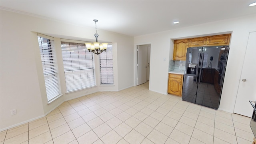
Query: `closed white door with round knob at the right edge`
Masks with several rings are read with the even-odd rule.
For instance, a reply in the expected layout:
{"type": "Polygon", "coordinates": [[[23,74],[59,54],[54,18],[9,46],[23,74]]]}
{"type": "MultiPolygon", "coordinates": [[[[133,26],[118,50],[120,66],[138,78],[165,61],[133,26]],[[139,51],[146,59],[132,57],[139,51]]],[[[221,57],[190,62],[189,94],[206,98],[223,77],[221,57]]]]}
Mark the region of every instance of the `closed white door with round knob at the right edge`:
{"type": "Polygon", "coordinates": [[[250,32],[242,74],[240,77],[234,113],[251,117],[253,108],[249,100],[256,100],[256,32],[250,32]]]}

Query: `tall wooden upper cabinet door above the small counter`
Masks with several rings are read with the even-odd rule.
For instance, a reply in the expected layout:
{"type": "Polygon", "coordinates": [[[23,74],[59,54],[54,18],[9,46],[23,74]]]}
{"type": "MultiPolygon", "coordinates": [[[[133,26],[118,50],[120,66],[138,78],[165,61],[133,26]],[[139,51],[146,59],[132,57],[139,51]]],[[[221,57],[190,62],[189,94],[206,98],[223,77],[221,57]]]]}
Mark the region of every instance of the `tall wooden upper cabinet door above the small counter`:
{"type": "Polygon", "coordinates": [[[186,60],[188,39],[174,40],[173,60],[186,60]]]}

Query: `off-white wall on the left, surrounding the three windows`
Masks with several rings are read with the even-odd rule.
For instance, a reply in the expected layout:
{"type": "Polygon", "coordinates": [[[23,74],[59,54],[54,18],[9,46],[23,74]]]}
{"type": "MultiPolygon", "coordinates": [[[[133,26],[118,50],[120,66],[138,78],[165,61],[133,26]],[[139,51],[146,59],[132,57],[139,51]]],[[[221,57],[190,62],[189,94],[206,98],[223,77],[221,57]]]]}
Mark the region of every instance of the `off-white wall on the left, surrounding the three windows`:
{"type": "MultiPolygon", "coordinates": [[[[134,38],[97,29],[99,41],[113,42],[114,86],[97,86],[66,94],[60,38],[94,41],[94,27],[64,24],[1,10],[0,130],[45,116],[62,102],[98,91],[118,91],[134,86],[134,38]],[[48,105],[37,32],[54,37],[63,96],[48,105]],[[10,110],[17,114],[11,115],[10,110]]],[[[92,22],[93,24],[93,22],[92,22]]],[[[95,55],[95,59],[97,56],[95,55]]]]}

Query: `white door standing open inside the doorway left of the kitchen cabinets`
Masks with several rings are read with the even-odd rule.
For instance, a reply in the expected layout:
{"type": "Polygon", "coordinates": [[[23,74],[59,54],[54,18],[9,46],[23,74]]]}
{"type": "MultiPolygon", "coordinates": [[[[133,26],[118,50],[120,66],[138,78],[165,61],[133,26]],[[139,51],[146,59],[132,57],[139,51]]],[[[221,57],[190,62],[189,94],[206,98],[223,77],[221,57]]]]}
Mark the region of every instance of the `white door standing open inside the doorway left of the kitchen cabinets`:
{"type": "Polygon", "coordinates": [[[138,72],[137,72],[137,85],[147,82],[147,56],[148,47],[144,45],[138,46],[138,72]]]}

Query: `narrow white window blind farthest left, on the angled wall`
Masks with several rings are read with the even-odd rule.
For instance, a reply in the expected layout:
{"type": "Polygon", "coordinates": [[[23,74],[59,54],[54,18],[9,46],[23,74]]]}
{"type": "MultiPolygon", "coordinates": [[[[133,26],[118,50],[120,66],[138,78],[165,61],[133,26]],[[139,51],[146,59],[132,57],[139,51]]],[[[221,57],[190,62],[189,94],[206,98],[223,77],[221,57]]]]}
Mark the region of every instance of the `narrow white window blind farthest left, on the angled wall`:
{"type": "Polygon", "coordinates": [[[48,102],[60,95],[55,50],[52,45],[53,42],[53,40],[38,36],[48,102]]]}

